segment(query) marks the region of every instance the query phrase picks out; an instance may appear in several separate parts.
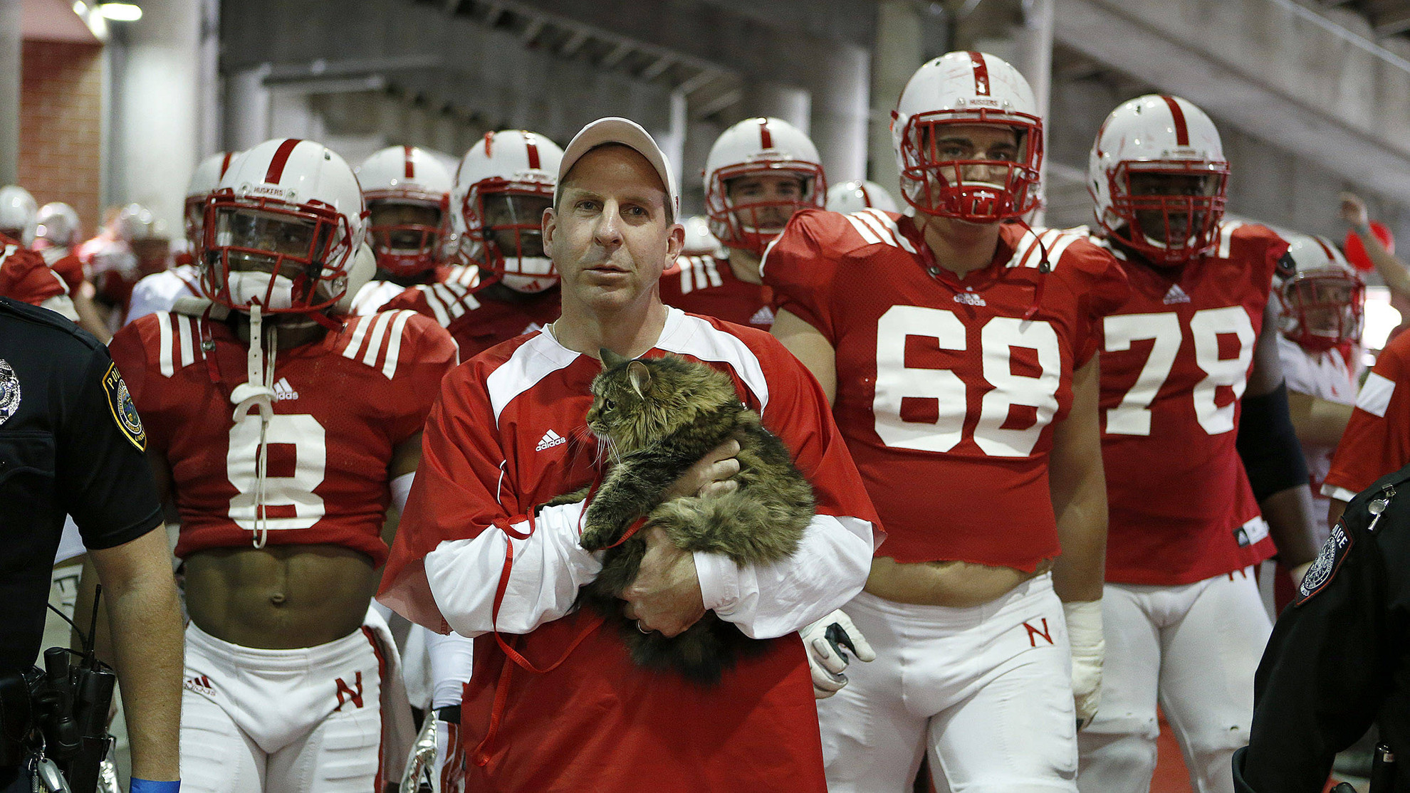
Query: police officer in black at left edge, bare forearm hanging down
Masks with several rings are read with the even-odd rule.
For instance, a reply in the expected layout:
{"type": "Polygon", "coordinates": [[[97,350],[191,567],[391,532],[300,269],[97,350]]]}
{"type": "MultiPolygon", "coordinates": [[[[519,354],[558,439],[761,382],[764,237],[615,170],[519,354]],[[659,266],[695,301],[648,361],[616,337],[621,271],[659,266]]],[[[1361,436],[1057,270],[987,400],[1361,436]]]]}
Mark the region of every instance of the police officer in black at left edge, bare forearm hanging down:
{"type": "MultiPolygon", "coordinates": [[[[0,297],[0,689],[39,652],[49,570],[72,514],[103,583],[133,744],[133,793],[175,793],[182,639],[147,437],[107,348],[0,297]]],[[[18,687],[23,692],[23,687],[18,687]]],[[[0,718],[0,792],[30,790],[23,707],[0,718]]]]}

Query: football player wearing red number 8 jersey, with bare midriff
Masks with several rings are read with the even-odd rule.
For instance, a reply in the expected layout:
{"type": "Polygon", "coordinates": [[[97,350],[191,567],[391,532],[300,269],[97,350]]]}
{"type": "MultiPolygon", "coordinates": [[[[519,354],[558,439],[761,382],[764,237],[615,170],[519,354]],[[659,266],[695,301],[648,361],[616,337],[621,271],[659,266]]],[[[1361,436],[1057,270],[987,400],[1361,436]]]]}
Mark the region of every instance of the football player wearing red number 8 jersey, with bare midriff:
{"type": "Polygon", "coordinates": [[[113,338],[182,518],[189,790],[379,790],[405,758],[382,747],[410,714],[368,604],[455,346],[412,311],[344,314],[364,234],[343,158],[266,141],[206,204],[210,300],[113,338]]]}

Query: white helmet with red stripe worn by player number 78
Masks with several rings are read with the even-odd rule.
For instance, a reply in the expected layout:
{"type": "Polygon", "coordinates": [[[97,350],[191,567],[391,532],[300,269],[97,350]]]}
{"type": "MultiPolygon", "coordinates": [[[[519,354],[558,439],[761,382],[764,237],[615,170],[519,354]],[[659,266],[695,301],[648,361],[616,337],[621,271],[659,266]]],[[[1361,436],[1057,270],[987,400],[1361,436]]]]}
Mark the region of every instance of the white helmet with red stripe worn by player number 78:
{"type": "Polygon", "coordinates": [[[1189,100],[1146,94],[1107,115],[1087,161],[1103,235],[1155,265],[1179,265],[1218,242],[1230,163],[1214,121],[1189,100]]]}

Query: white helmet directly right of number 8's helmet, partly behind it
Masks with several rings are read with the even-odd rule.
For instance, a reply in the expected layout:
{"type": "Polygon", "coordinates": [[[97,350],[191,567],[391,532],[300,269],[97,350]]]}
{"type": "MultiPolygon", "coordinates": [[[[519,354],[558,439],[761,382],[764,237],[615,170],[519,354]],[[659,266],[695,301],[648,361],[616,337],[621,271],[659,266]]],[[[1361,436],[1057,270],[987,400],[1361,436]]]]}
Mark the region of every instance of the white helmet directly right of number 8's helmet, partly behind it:
{"type": "Polygon", "coordinates": [[[436,266],[451,175],[416,146],[388,146],[357,169],[369,213],[368,241],[376,265],[396,276],[436,266]],[[407,207],[407,208],[403,208],[407,207]]]}

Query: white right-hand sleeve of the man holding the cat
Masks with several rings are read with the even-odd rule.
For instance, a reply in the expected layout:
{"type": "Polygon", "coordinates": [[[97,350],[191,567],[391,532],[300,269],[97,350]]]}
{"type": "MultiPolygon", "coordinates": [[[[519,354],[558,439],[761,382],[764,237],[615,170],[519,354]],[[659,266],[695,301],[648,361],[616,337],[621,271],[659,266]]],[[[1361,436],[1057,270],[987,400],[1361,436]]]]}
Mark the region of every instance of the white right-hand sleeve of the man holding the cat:
{"type": "Polygon", "coordinates": [[[774,565],[739,566],[719,554],[695,554],[701,596],[706,608],[747,637],[791,634],[862,592],[873,542],[867,521],[814,516],[798,551],[774,565]]]}

